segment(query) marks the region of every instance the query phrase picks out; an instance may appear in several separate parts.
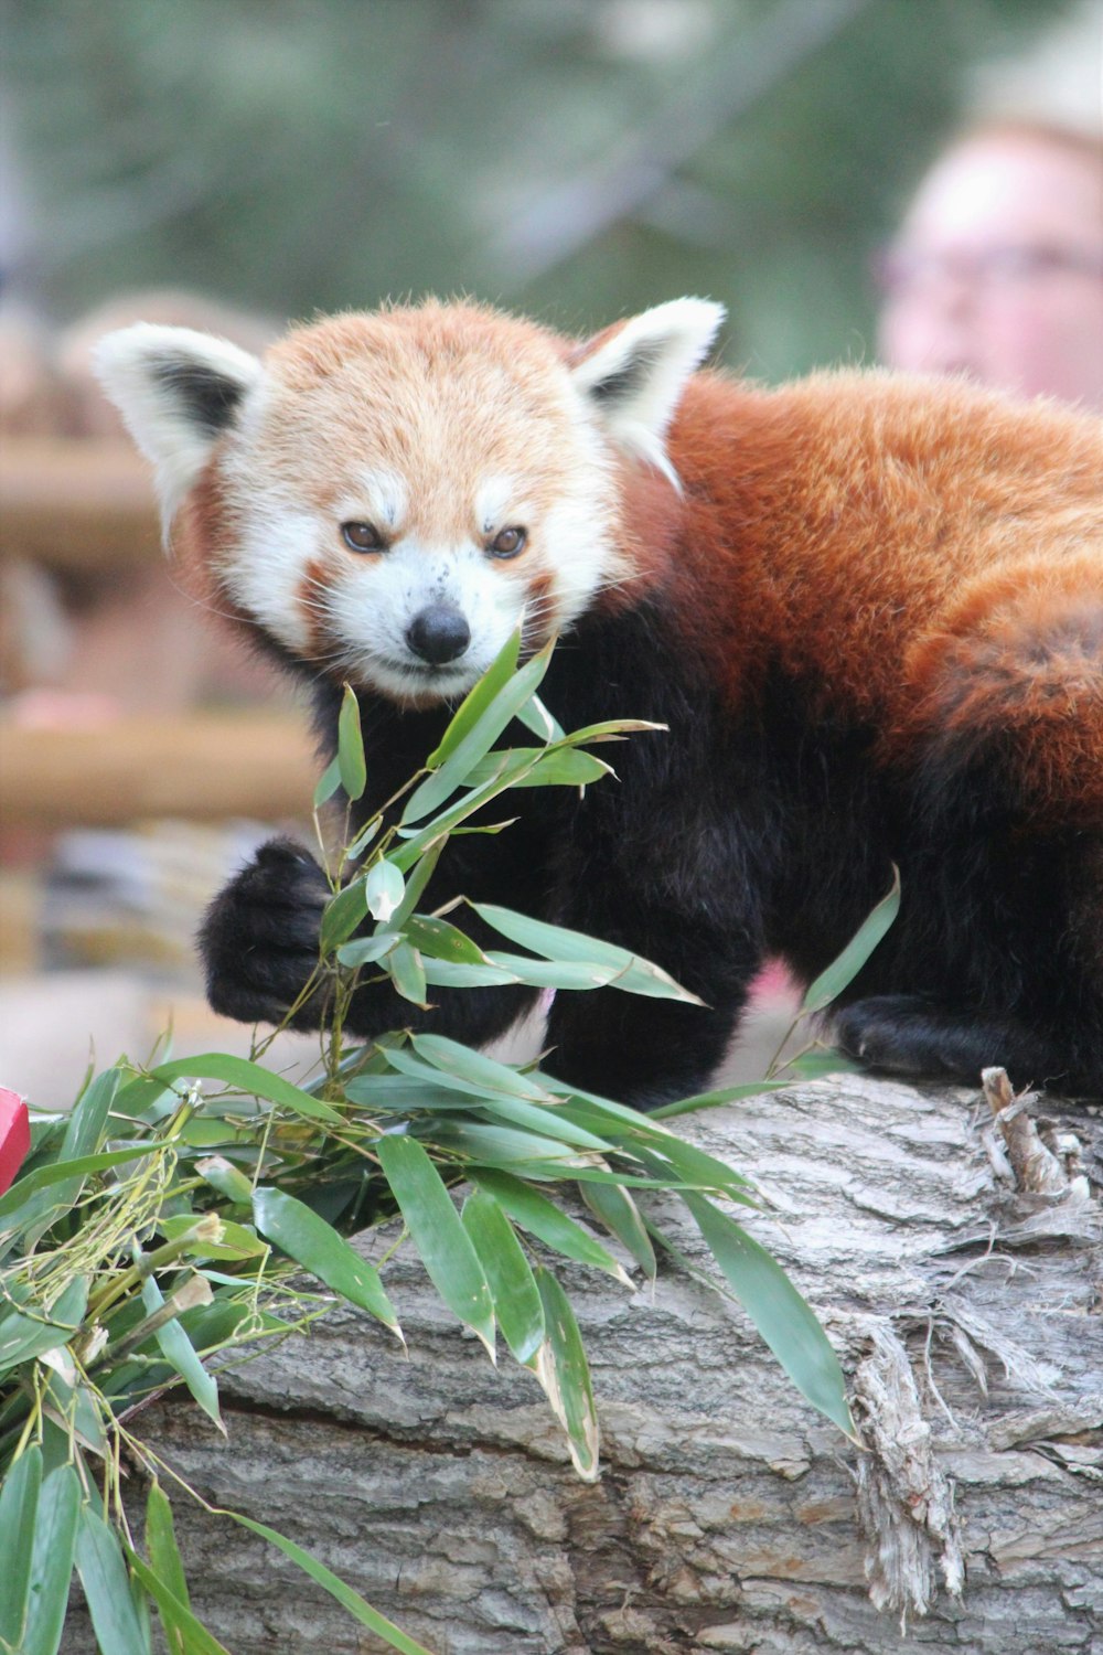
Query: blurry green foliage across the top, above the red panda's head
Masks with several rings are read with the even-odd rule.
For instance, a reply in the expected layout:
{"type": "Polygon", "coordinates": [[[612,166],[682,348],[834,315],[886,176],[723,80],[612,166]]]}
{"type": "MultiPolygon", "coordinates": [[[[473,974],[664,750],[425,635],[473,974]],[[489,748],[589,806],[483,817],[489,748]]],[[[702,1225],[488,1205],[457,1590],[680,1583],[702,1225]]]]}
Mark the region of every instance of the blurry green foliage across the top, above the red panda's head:
{"type": "Polygon", "coordinates": [[[8,0],[10,270],[60,319],[466,291],[569,331],[683,291],[726,359],[871,356],[871,247],[1058,0],[8,0]],[[594,220],[590,218],[594,215],[594,220]]]}

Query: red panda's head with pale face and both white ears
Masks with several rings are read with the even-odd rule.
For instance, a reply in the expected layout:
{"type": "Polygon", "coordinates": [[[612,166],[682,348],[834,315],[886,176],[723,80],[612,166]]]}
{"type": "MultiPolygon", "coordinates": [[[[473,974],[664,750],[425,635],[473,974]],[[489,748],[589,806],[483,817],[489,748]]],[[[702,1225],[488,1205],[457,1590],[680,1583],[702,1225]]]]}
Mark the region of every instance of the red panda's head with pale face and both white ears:
{"type": "Polygon", "coordinates": [[[98,349],[213,592],[336,680],[466,692],[625,579],[617,470],[665,435],[721,321],[675,300],[585,344],[470,305],[336,316],[263,361],[139,323],[98,349]],[[217,488],[217,513],[182,510],[217,488]]]}

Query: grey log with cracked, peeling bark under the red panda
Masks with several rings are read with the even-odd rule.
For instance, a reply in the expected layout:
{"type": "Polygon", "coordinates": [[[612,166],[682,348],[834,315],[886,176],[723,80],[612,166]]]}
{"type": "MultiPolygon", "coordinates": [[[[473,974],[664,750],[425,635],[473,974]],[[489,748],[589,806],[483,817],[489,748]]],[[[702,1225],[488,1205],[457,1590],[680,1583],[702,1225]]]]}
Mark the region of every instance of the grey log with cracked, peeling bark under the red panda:
{"type": "MultiPolygon", "coordinates": [[[[385,1279],[408,1360],[337,1309],[222,1379],[228,1445],[189,1405],[136,1427],[437,1655],[1100,1652],[1103,1124],[997,1106],[847,1076],[675,1122],[771,1195],[747,1228],[838,1349],[863,1453],[683,1271],[632,1294],[556,1261],[602,1423],[585,1486],[534,1380],[491,1369],[405,1250],[385,1279]],[[1025,1129],[1063,1175],[1043,1188],[1025,1129]]],[[[233,1655],[382,1647],[273,1547],[174,1509],[233,1655]]],[[[91,1648],[79,1619],[63,1648],[91,1648]]]]}

